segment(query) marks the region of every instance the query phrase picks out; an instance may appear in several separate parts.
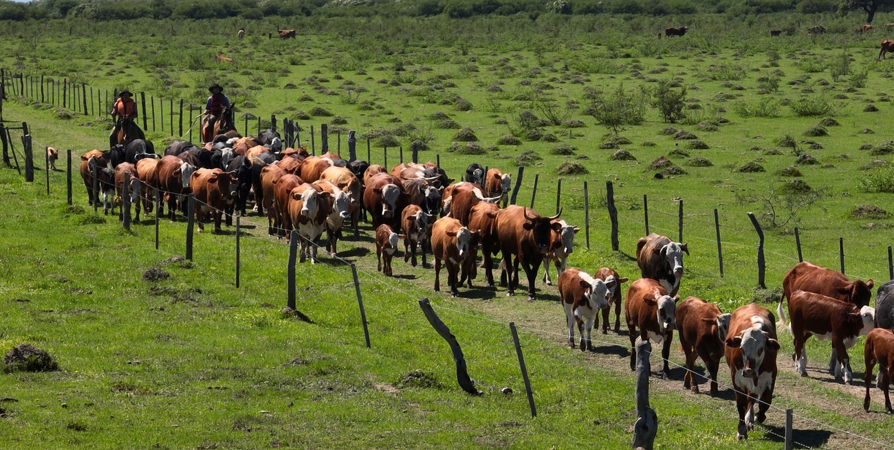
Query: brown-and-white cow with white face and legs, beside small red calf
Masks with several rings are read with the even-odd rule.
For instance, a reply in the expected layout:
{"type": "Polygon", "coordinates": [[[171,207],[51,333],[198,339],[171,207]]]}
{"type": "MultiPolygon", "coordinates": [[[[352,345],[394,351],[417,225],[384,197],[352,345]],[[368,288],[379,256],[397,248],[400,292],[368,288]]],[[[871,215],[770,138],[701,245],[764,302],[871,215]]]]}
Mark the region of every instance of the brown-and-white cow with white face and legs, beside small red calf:
{"type": "MultiPolygon", "coordinates": [[[[611,282],[617,284],[616,279],[611,282]]],[[[593,349],[591,332],[600,310],[609,307],[609,287],[602,279],[594,279],[585,271],[569,267],[559,275],[559,297],[568,322],[568,346],[574,348],[574,325],[578,324],[580,350],[593,349]],[[586,333],[586,338],[584,337],[586,333]]]]}

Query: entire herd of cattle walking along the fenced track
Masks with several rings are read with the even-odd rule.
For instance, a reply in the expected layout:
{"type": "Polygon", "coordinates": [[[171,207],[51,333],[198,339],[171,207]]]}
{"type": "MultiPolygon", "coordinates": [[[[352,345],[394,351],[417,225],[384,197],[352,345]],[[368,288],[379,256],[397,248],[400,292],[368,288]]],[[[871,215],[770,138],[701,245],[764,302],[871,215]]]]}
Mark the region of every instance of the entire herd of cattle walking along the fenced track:
{"type": "MultiPolygon", "coordinates": [[[[129,192],[139,221],[140,206],[151,212],[158,192],[164,197],[158,199],[159,204],[167,204],[173,220],[176,210],[186,209],[184,200],[191,194],[201,232],[206,214],[213,217],[215,231],[219,231],[223,217],[229,226],[233,213],[247,213],[253,197],[257,213],[267,217],[269,234],[291,239],[297,233],[301,262],[316,261],[324,231],[326,251],[334,256],[342,225],[350,226],[358,237],[360,217],[368,212],[378,270],[386,276],[392,276],[392,257],[401,239],[404,262],[411,258],[415,266],[418,251],[426,265],[426,253],[434,255],[434,290],[440,290],[441,269],[446,268],[452,296],[457,296],[464,284],[472,287],[479,267],[485,271],[486,284],[493,286],[493,257],[502,254],[501,285],[508,287],[510,296],[514,294],[520,264],[527,276],[527,298],[532,300],[541,264],[544,282],[552,285],[549,262],[553,262],[569,346],[575,346],[577,328],[581,350],[591,349],[597,315],[602,312],[603,334],[607,333],[612,304],[614,331],[620,332],[621,285],[628,278],[607,267],[593,275],[568,267],[578,228],[561,221],[561,211],[546,217],[531,208],[505,205],[509,174],[471,164],[462,180],[454,183],[455,179],[432,162],[401,163],[388,170],[377,164],[348,162],[338,154],[312,156],[303,147],[283,149],[280,138],[270,130],[258,137],[215,141],[205,146],[175,141],[161,157],[151,143],[142,140],[107,151],[91,150],[80,162],[89,203],[101,203],[104,212],[114,212],[114,204],[129,192]],[[131,179],[127,187],[125,174],[131,179]],[[98,179],[96,191],[94,178],[98,179]],[[479,251],[483,256],[480,264],[479,251]]],[[[792,357],[802,376],[807,375],[805,340],[813,335],[831,339],[830,371],[836,379],[853,382],[847,351],[857,337],[868,334],[864,408],[869,409],[870,379],[877,363],[877,387],[885,395],[886,412],[894,412],[888,389],[894,379],[894,281],[879,288],[873,309],[869,306],[873,280],[851,281],[838,272],[800,262],[783,280],[777,323],[773,313],[758,304],[722,313],[717,305],[695,296],[680,302],[683,256],[688,253],[687,244],[656,234],[637,242],[642,278],[630,283],[623,300],[631,370],[635,369],[639,337],[662,343],[662,374],[669,377],[668,357],[676,329],[686,356],[683,386],[698,392],[694,370],[696,359],[701,358],[711,394],[716,395],[717,371],[725,356],[736,392],[737,436],[746,438],[755,421],[763,422],[772,403],[780,351],[777,327],[784,328],[788,320],[795,346],[792,357]],[[786,300],[788,318],[783,305],[786,300]]]]}

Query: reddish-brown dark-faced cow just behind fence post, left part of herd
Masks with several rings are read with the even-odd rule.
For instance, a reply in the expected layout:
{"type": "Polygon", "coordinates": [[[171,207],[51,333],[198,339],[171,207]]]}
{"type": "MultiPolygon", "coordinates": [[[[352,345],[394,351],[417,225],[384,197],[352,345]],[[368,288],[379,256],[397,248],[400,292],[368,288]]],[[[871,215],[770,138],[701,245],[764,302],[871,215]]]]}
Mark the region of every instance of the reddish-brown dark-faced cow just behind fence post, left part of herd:
{"type": "Polygon", "coordinates": [[[210,213],[215,220],[215,233],[221,231],[223,211],[232,206],[236,198],[236,186],[239,183],[234,174],[220,169],[198,169],[192,172],[190,187],[196,199],[196,223],[198,232],[205,229],[202,221],[205,214],[210,213]]]}

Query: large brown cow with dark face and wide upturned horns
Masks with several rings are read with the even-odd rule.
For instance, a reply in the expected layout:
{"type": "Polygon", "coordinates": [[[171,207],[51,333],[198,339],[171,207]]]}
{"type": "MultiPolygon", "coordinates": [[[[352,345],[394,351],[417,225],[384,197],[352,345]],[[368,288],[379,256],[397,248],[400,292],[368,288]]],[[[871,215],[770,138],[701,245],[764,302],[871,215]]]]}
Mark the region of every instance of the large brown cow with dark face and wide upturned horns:
{"type": "Polygon", "coordinates": [[[560,230],[559,223],[553,222],[560,215],[561,211],[544,217],[533,209],[515,204],[510,204],[497,214],[497,237],[502,253],[500,283],[508,286],[507,295],[515,295],[519,287],[520,263],[527,276],[527,299],[536,298],[534,281],[544,256],[549,252],[551,231],[560,230]]]}

